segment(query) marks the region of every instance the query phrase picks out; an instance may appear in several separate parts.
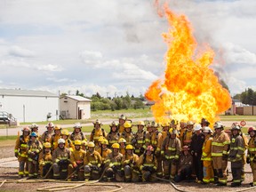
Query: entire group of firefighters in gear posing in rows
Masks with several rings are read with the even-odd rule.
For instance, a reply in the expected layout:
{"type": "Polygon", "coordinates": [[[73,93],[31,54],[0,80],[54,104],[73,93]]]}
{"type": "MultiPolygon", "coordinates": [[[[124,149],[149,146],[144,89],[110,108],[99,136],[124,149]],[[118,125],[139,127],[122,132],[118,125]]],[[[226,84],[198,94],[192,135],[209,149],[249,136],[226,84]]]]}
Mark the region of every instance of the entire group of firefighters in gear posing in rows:
{"type": "Polygon", "coordinates": [[[38,125],[24,127],[15,145],[20,163],[19,177],[57,180],[156,181],[196,180],[226,186],[228,161],[231,162],[231,187],[244,180],[244,164],[250,164],[256,186],[256,129],[249,127],[250,140],[237,123],[229,132],[220,121],[213,124],[202,118],[199,124],[172,119],[171,122],[132,120],[122,115],[110,132],[99,120],[93,122],[90,140],[79,123],[69,134],[67,129],[49,122],[38,135],[38,125]],[[137,129],[132,130],[132,126],[137,129]],[[162,130],[160,130],[162,128],[162,130]],[[133,132],[132,132],[133,131],[133,132]],[[245,152],[247,150],[247,153],[245,152]],[[103,175],[102,175],[103,174],[103,175]]]}

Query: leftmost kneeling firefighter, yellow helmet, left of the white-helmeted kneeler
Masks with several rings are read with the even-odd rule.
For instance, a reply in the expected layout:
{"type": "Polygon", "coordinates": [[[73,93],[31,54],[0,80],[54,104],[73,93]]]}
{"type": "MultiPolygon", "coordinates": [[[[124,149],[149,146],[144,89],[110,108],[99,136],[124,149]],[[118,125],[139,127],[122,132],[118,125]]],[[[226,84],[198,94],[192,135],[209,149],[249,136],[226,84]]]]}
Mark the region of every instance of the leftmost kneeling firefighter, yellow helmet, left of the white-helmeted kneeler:
{"type": "MultiPolygon", "coordinates": [[[[44,177],[49,169],[52,167],[52,153],[51,153],[52,145],[50,142],[44,142],[43,150],[39,154],[39,170],[41,173],[41,177],[44,177]]],[[[52,171],[52,170],[51,170],[52,171]]],[[[52,178],[52,172],[50,171],[47,178],[52,178]]]]}

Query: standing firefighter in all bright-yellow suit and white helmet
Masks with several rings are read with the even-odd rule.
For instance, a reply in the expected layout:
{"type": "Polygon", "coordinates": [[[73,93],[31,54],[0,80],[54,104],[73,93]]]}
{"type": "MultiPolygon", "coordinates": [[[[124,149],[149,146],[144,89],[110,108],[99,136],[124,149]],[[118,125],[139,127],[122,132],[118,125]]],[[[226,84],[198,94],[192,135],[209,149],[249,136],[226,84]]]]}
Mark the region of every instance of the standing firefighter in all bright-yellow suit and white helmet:
{"type": "Polygon", "coordinates": [[[214,174],[212,168],[212,130],[208,126],[204,126],[203,129],[204,134],[204,145],[202,148],[202,157],[201,160],[203,161],[203,170],[204,170],[204,184],[208,184],[214,181],[214,174]]]}

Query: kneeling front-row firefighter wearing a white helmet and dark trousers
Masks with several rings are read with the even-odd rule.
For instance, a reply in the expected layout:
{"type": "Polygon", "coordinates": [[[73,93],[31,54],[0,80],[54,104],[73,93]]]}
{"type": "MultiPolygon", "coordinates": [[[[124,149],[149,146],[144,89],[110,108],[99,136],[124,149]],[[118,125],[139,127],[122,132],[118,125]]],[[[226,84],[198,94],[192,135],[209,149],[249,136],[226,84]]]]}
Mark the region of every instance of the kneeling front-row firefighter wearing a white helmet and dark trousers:
{"type": "Polygon", "coordinates": [[[65,140],[60,138],[58,140],[58,148],[52,152],[52,168],[54,179],[66,179],[68,177],[68,164],[71,152],[65,148],[65,140]]]}

